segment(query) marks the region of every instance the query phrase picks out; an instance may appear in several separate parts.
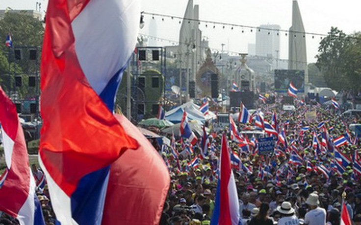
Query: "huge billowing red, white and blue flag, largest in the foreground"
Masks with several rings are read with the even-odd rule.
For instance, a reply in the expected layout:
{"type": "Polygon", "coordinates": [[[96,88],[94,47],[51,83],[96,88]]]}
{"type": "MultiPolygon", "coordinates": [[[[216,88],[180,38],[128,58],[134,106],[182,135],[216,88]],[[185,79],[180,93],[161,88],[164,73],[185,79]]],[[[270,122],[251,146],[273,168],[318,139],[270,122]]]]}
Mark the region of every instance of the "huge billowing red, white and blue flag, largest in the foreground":
{"type": "Polygon", "coordinates": [[[156,224],[161,216],[168,170],[139,130],[112,113],[139,18],[140,0],[49,1],[39,161],[63,225],[156,224]]]}

